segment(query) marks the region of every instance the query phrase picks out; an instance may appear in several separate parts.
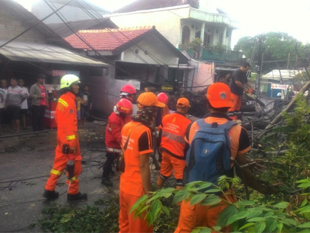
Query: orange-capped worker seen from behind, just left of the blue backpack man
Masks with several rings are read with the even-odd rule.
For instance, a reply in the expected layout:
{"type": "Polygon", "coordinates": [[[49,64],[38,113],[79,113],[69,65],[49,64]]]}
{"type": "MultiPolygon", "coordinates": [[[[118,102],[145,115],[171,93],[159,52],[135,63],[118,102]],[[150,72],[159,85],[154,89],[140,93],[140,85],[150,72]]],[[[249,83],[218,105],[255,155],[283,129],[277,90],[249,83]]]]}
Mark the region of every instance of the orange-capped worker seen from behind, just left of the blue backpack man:
{"type": "Polygon", "coordinates": [[[176,102],[176,112],[164,116],[161,123],[159,138],[161,139],[160,152],[163,154],[161,172],[158,174],[157,186],[163,187],[165,180],[170,178],[174,171],[176,189],[183,189],[183,171],[186,166],[185,155],[188,145],[185,144],[185,132],[192,122],[186,118],[190,102],[187,98],[179,98],[176,102]]]}

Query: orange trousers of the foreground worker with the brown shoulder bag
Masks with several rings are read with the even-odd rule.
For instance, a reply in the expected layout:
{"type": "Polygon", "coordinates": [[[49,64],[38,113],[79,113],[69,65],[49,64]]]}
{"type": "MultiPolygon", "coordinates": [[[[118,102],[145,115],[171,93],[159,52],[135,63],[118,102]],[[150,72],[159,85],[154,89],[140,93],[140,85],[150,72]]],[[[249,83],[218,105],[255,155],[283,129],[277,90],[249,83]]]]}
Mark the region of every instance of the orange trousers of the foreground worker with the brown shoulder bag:
{"type": "Polygon", "coordinates": [[[120,216],[118,223],[120,232],[153,232],[153,226],[147,225],[144,219],[145,215],[140,219],[134,219],[134,213],[129,214],[131,207],[140,198],[140,196],[132,196],[120,190],[120,216]]]}

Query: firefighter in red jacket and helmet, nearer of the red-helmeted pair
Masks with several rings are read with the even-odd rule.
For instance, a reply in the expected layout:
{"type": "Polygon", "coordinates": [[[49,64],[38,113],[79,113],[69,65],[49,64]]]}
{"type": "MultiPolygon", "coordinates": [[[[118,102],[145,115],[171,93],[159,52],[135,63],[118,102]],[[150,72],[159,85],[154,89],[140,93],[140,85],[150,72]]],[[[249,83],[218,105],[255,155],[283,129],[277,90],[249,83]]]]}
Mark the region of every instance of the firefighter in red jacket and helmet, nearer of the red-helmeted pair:
{"type": "Polygon", "coordinates": [[[103,165],[102,184],[107,187],[113,187],[113,183],[109,179],[112,171],[112,164],[120,153],[120,132],[122,128],[130,121],[128,116],[133,112],[132,103],[127,98],[121,98],[114,107],[114,112],[109,116],[107,128],[105,130],[105,146],[107,149],[107,160],[103,165]],[[129,120],[129,121],[128,121],[129,120]]]}

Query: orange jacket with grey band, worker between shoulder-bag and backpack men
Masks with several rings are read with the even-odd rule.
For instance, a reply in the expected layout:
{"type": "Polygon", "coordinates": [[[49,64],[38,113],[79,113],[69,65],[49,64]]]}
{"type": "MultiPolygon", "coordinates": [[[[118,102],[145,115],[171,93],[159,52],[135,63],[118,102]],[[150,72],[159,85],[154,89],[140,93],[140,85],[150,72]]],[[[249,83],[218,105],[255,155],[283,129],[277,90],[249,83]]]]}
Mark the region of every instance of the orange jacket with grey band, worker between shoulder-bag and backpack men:
{"type": "Polygon", "coordinates": [[[163,117],[161,124],[161,151],[173,157],[185,159],[185,132],[191,123],[181,112],[174,112],[163,117]]]}

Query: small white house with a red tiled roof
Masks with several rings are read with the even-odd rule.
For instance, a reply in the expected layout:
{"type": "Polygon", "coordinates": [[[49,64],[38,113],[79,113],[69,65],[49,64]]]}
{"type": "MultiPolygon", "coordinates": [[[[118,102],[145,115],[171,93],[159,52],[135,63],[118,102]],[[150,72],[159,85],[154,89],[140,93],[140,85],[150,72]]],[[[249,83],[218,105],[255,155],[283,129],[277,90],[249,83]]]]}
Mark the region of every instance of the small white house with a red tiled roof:
{"type": "Polygon", "coordinates": [[[93,92],[104,93],[100,100],[103,112],[113,110],[126,83],[138,90],[153,86],[165,91],[192,85],[194,67],[190,59],[155,27],[84,30],[79,34],[89,44],[77,35],[66,37],[66,42],[84,55],[111,64],[102,80],[91,79],[98,84],[93,92]]]}

